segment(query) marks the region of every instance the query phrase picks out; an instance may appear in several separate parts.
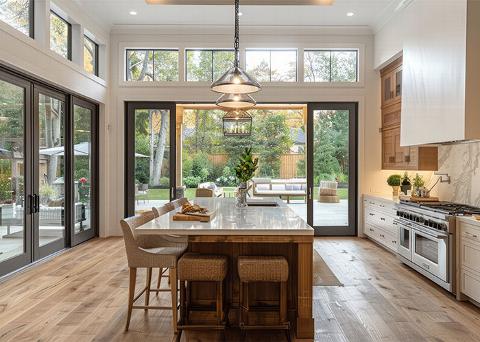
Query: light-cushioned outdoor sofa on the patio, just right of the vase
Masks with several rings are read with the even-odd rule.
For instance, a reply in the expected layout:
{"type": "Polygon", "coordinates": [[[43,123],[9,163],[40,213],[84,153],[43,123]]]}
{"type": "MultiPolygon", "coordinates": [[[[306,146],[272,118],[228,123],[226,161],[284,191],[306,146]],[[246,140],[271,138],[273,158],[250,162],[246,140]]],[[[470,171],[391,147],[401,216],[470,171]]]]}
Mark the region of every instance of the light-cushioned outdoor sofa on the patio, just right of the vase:
{"type": "Polygon", "coordinates": [[[302,197],[307,201],[307,180],[304,178],[253,178],[252,189],[254,197],[286,198],[287,203],[290,203],[291,197],[302,197]]]}

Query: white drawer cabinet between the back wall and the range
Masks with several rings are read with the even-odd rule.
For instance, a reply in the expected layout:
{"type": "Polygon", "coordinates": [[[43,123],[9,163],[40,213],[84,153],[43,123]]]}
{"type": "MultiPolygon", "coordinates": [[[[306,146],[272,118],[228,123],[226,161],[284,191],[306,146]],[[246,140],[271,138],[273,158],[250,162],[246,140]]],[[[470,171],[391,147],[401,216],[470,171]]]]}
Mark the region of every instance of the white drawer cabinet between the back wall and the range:
{"type": "Polygon", "coordinates": [[[397,252],[398,226],[396,204],[371,195],[363,196],[364,234],[382,246],[397,252]]]}

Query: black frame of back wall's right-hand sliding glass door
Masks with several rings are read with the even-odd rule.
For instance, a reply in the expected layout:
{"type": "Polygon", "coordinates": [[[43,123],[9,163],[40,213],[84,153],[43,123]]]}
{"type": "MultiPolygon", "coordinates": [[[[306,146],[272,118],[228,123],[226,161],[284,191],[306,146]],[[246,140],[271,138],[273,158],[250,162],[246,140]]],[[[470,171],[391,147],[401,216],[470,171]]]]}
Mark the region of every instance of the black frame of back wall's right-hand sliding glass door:
{"type": "Polygon", "coordinates": [[[357,235],[357,160],[358,160],[358,102],[310,102],[307,104],[307,222],[316,236],[357,235]],[[313,224],[313,112],[315,110],[348,110],[349,115],[349,193],[348,226],[315,227],[313,224]]]}

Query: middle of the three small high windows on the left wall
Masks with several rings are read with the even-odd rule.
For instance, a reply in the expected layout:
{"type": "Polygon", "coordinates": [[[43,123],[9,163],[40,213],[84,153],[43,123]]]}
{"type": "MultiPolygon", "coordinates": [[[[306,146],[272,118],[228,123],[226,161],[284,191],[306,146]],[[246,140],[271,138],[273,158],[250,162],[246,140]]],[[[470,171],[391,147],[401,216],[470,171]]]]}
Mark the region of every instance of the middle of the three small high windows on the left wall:
{"type": "Polygon", "coordinates": [[[72,60],[72,25],[55,12],[50,12],[50,49],[72,60]]]}

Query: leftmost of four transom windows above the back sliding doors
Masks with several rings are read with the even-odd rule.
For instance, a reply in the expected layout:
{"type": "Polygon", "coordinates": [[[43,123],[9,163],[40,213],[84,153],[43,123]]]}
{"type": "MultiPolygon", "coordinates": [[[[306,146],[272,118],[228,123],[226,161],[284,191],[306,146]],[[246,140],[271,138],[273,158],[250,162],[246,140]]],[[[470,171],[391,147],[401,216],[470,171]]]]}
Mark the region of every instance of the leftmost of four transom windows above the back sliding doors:
{"type": "Polygon", "coordinates": [[[178,50],[127,49],[127,81],[178,81],[178,50]]]}

